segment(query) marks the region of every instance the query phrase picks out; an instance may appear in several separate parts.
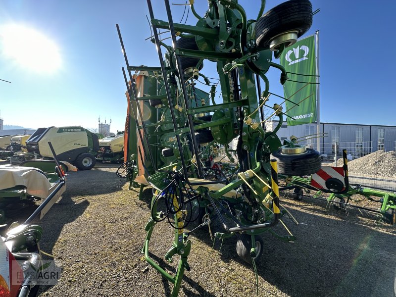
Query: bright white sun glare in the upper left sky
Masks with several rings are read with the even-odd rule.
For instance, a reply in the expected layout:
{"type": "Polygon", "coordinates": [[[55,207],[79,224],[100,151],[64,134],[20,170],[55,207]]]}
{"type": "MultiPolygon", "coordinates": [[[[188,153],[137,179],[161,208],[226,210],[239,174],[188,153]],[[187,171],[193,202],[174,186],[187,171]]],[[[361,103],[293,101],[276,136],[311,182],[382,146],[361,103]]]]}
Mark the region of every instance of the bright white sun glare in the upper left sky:
{"type": "Polygon", "coordinates": [[[0,54],[35,72],[54,72],[61,65],[59,49],[53,41],[17,24],[0,27],[0,54]]]}

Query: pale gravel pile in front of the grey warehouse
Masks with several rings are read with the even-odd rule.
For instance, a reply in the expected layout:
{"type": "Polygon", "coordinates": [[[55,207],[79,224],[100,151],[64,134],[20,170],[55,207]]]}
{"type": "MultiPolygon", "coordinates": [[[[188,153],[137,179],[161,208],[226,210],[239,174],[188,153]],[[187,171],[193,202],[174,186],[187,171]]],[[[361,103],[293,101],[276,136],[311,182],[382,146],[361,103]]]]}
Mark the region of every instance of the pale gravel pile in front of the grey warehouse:
{"type": "MultiPolygon", "coordinates": [[[[337,166],[343,166],[342,158],[337,160],[337,166]]],[[[353,173],[396,177],[396,152],[377,150],[349,161],[348,170],[353,173]]]]}

